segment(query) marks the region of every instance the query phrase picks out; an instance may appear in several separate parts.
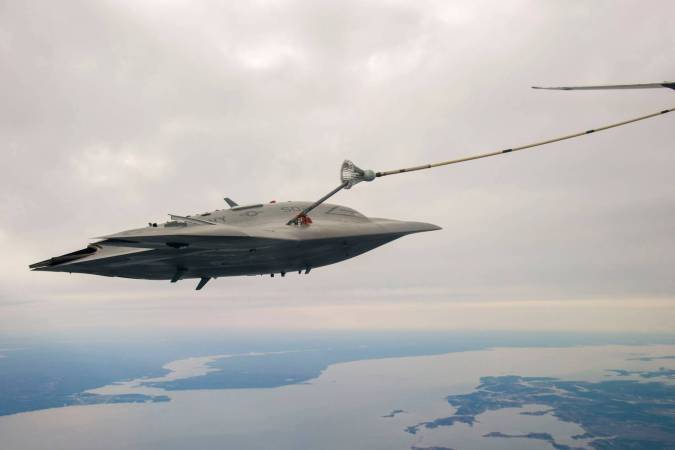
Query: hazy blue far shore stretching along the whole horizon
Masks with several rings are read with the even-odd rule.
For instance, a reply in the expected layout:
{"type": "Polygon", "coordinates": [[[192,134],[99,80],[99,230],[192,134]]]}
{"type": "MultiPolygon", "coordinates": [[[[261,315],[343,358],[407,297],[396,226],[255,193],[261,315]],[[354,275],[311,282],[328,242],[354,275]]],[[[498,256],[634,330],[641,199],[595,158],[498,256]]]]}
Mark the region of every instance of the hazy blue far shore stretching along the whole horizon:
{"type": "MultiPolygon", "coordinates": [[[[115,382],[147,378],[146,386],[166,390],[265,388],[304,383],[331,364],[421,356],[502,347],[568,347],[627,343],[675,343],[655,335],[583,335],[579,333],[256,333],[167,340],[124,338],[13,338],[0,335],[0,416],[81,404],[89,390],[115,382]],[[209,355],[284,352],[277,355],[223,358],[203,376],[152,382],[169,373],[172,361],[209,355]]],[[[643,356],[646,358],[646,356],[643,356]]],[[[671,358],[671,357],[657,357],[671,358]]],[[[123,401],[118,397],[114,401],[123,401]]],[[[128,397],[131,401],[136,401],[128,397]]],[[[94,401],[88,399],[87,401],[94,401]]],[[[96,401],[111,401],[100,399],[96,401]]],[[[154,401],[144,399],[143,401],[154,401]]],[[[466,419],[470,420],[470,419],[466,419]]]]}

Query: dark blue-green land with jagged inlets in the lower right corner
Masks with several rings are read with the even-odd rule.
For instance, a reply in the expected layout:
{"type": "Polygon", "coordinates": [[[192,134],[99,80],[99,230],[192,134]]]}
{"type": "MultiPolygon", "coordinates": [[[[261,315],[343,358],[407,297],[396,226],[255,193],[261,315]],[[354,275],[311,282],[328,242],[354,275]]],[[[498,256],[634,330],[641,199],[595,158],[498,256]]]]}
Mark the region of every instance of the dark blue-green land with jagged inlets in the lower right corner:
{"type": "MultiPolygon", "coordinates": [[[[658,382],[611,380],[565,381],[547,377],[483,377],[474,392],[448,396],[455,414],[406,428],[416,434],[423,428],[472,425],[487,411],[543,405],[565,422],[580,425],[586,433],[575,439],[592,439],[596,449],[675,448],[675,386],[658,382]]],[[[487,437],[542,439],[557,449],[571,449],[545,433],[487,437]],[[549,439],[550,438],[550,439],[549,439]]]]}

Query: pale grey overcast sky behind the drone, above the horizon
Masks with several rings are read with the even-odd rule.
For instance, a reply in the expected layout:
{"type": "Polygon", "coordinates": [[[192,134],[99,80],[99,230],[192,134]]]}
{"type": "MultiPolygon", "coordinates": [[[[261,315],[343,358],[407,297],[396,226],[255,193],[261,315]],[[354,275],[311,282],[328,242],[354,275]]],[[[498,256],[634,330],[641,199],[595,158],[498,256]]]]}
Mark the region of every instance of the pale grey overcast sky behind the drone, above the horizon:
{"type": "Polygon", "coordinates": [[[0,1],[0,329],[673,331],[675,117],[334,198],[435,223],[309,276],[31,273],[89,238],[675,105],[675,3],[0,1]]]}

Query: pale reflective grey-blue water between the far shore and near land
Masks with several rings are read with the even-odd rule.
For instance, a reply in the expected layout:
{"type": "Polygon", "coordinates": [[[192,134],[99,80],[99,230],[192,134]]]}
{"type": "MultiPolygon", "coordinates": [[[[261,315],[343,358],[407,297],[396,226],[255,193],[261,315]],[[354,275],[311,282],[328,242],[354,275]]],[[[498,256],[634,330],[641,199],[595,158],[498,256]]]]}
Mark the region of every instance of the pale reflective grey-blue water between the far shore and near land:
{"type": "MultiPolygon", "coordinates": [[[[0,417],[3,450],[13,449],[549,449],[525,438],[484,437],[489,432],[547,432],[556,442],[584,448],[573,439],[583,428],[547,414],[523,411],[541,405],[489,411],[473,426],[456,424],[417,434],[406,427],[452,415],[448,395],[472,392],[483,376],[547,376],[570,380],[612,379],[609,369],[657,370],[675,360],[638,356],[675,355],[675,346],[582,346],[495,348],[436,356],[355,361],[331,365],[319,377],[276,388],[164,391],[143,386],[199,376],[210,363],[231,355],[188,358],[167,366],[163,377],[137,379],[94,393],[168,395],[170,402],[68,406],[0,417]],[[383,417],[395,410],[403,412],[383,417]]],[[[587,448],[587,447],[586,447],[587,448]]]]}

